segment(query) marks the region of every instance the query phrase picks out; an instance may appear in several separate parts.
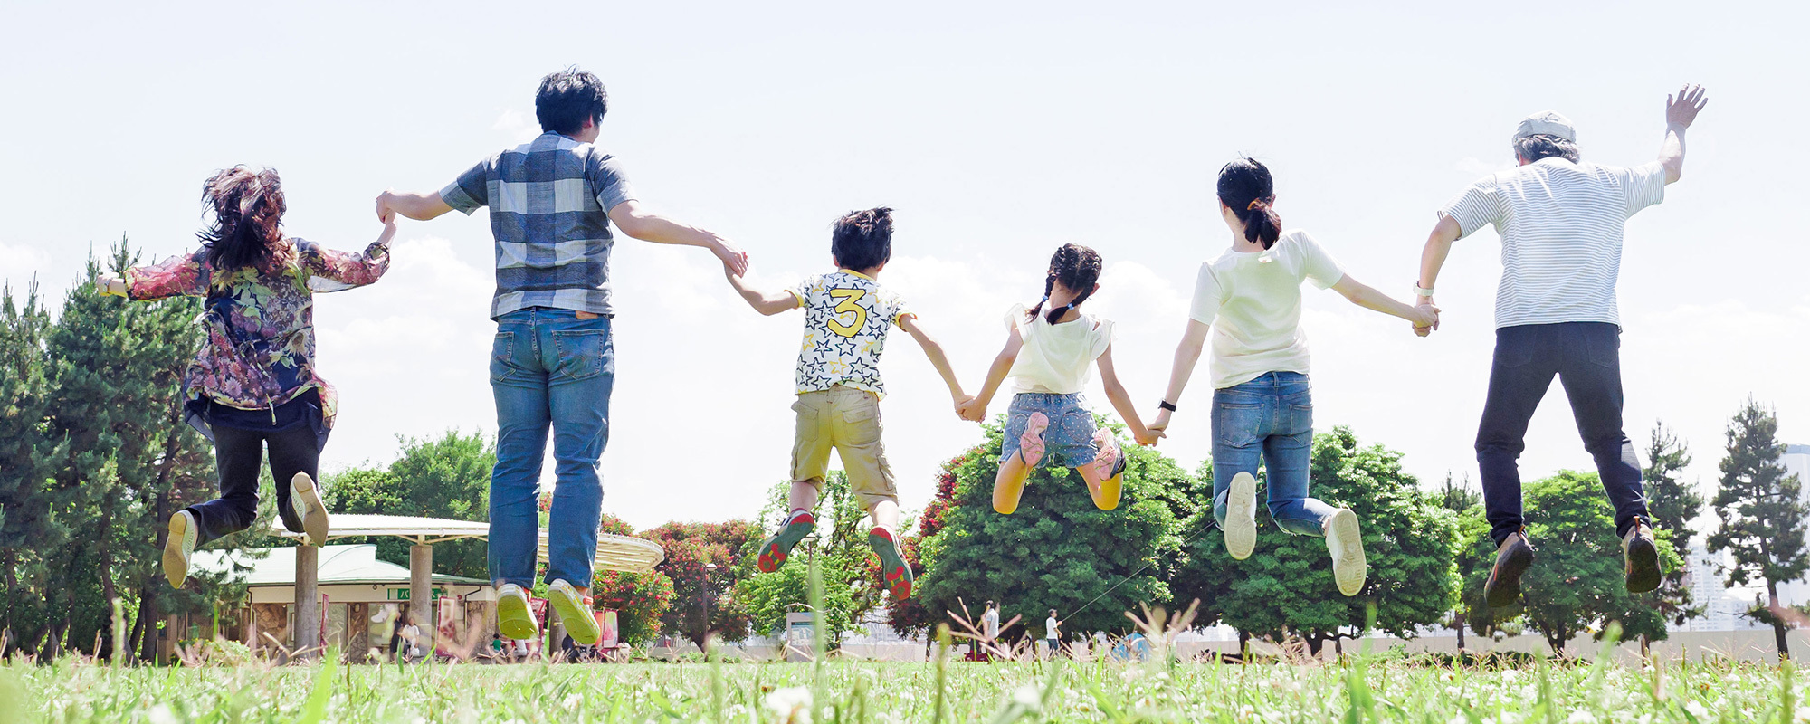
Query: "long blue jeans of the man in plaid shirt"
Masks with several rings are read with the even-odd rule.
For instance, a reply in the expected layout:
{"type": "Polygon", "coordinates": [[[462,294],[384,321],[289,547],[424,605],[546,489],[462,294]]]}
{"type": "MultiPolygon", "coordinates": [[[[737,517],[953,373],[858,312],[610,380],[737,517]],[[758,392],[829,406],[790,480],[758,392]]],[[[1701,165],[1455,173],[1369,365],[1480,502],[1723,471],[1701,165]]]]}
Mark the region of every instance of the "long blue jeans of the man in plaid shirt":
{"type": "Polygon", "coordinates": [[[597,458],[610,438],[615,346],[610,319],[527,308],[496,319],[491,391],[496,395],[496,469],[491,472],[491,579],[534,585],[539,545],[541,458],[554,433],[547,583],[590,586],[603,521],[597,458]]]}

